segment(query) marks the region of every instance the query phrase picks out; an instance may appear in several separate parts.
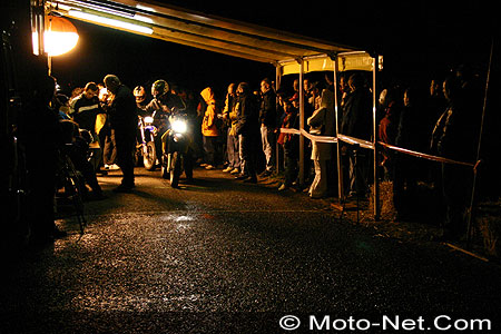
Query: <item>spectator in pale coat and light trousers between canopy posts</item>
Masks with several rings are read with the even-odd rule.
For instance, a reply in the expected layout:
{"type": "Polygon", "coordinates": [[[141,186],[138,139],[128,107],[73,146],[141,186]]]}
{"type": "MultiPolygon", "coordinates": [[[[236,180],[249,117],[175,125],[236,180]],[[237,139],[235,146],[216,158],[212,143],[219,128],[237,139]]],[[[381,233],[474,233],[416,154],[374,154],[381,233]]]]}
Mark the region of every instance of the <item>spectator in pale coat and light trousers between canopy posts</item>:
{"type": "MultiPolygon", "coordinates": [[[[327,89],[322,91],[321,107],[307,119],[312,128],[322,128],[322,136],[335,134],[334,92],[327,89]]],[[[315,167],[315,178],[310,187],[310,197],[322,198],[327,195],[327,160],[332,158],[332,145],[313,140],[312,160],[315,167]]]]}

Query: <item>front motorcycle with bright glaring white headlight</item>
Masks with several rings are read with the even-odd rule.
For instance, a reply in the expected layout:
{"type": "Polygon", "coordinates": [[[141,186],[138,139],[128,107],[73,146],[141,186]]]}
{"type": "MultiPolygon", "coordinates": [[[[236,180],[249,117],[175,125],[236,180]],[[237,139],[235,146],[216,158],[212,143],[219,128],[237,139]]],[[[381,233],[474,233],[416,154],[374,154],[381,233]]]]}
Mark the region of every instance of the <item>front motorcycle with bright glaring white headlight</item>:
{"type": "Polygon", "coordinates": [[[183,171],[185,171],[187,179],[193,178],[191,136],[187,115],[170,116],[169,122],[170,128],[164,135],[166,137],[163,138],[165,151],[161,161],[161,177],[168,178],[170,186],[177,188],[183,171]]]}

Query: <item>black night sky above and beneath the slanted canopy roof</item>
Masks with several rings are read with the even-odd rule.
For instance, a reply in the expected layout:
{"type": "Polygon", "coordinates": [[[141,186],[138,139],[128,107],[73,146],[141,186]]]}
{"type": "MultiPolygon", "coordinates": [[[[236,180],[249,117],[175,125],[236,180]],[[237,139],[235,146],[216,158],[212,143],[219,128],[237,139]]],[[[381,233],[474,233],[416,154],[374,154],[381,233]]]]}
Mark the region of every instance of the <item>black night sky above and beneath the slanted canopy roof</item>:
{"type": "MultiPolygon", "coordinates": [[[[385,69],[403,77],[444,70],[460,62],[482,67],[489,55],[492,8],[482,1],[165,1],[206,13],[376,50],[385,69]],[[453,2],[451,2],[453,3],[453,2]],[[332,6],[335,6],[334,9],[332,6]],[[490,10],[489,10],[490,9],[490,10]]],[[[79,21],[78,47],[53,60],[62,85],[99,81],[117,73],[131,88],[164,78],[195,90],[224,89],[232,81],[257,85],[274,77],[267,63],[247,61],[79,21]]]]}

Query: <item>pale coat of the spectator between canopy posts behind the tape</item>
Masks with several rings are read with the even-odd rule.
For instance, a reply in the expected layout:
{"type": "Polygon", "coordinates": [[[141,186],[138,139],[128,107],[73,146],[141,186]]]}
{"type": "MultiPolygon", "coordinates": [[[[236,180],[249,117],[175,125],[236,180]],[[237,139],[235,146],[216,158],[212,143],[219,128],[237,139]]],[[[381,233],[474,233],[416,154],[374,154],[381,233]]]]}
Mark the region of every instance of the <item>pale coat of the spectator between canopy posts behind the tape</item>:
{"type": "MultiPolygon", "coordinates": [[[[334,94],[331,90],[322,91],[321,108],[313,111],[307,119],[307,125],[318,127],[324,125],[322,136],[334,136],[335,134],[335,114],[334,114],[334,94]]],[[[330,160],[332,158],[332,145],[328,143],[313,141],[312,160],[330,160]]]]}

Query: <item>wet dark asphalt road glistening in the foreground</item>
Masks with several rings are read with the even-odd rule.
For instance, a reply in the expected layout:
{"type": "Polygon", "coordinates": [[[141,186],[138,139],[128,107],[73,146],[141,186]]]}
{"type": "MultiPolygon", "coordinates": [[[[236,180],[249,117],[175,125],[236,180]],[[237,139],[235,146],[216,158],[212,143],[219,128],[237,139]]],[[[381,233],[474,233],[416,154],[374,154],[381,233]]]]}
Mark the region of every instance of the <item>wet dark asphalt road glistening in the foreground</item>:
{"type": "Polygon", "coordinates": [[[381,238],[325,202],[220,170],[196,169],[180,189],[159,171],[136,174],[131,194],[111,191],[120,173],[99,178],[109,198],[87,203],[81,238],[61,219],[67,238],[8,267],[0,333],[317,333],[312,314],[422,316],[425,328],[438,315],[480,317],[501,333],[498,264],[381,238]],[[295,332],[278,324],[289,314],[302,321],[295,332]]]}

